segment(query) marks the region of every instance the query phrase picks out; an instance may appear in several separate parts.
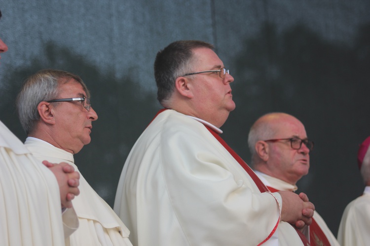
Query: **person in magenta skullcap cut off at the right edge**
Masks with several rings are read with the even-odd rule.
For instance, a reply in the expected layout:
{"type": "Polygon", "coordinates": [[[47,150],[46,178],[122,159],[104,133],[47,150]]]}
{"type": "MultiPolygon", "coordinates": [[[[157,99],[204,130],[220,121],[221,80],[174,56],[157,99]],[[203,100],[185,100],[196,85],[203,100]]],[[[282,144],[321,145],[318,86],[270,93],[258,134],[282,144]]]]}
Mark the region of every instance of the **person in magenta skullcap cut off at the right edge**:
{"type": "Polygon", "coordinates": [[[350,202],[344,210],[338,230],[341,246],[368,246],[370,244],[370,137],[360,145],[357,163],[364,181],[362,196],[350,202]]]}

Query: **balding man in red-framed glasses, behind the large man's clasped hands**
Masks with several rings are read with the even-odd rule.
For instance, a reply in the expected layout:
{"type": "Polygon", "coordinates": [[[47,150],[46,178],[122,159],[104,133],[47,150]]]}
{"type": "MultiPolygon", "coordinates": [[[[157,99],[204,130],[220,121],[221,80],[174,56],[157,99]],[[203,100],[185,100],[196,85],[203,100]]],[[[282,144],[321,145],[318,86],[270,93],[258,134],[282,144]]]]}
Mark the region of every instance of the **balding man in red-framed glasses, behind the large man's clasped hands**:
{"type": "MultiPolygon", "coordinates": [[[[296,191],[296,183],[308,174],[313,142],[296,117],[275,112],[261,116],[248,135],[251,166],[272,192],[296,191]]],[[[324,219],[315,211],[309,226],[311,246],[339,246],[324,219]]]]}

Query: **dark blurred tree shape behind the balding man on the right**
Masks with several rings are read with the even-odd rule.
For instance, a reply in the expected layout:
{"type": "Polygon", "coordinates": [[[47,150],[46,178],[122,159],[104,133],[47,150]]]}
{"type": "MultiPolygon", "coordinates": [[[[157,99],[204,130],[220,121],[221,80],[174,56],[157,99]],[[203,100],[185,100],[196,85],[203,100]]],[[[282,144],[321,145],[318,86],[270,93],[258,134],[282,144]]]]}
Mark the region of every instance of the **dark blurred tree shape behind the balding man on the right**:
{"type": "Polygon", "coordinates": [[[358,29],[352,46],[325,40],[304,25],[278,32],[271,23],[244,44],[232,71],[236,109],[222,127],[223,137],[248,163],[249,128],[260,116],[279,111],[298,118],[315,141],[310,173],[298,191],[330,218],[336,235],[348,200],[364,187],[356,156],[370,135],[370,24],[358,29]],[[340,195],[329,192],[336,190],[340,195]]]}

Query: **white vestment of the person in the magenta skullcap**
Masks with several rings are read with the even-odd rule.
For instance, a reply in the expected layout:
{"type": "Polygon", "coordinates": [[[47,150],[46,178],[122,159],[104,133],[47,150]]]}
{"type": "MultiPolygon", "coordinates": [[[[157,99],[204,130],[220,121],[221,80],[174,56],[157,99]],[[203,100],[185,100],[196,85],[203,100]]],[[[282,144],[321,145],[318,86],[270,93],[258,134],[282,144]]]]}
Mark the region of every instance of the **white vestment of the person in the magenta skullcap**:
{"type": "Polygon", "coordinates": [[[339,224],[338,241],[341,246],[370,245],[370,186],[364,194],[350,202],[339,224]]]}

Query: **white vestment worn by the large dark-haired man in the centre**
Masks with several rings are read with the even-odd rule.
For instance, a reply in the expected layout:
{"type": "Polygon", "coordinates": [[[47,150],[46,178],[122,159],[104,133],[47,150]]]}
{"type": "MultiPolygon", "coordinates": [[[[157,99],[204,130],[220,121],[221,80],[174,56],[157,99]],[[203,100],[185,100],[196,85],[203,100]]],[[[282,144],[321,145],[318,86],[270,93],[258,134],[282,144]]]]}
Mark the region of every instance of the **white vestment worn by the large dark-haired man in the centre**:
{"type": "Polygon", "coordinates": [[[280,194],[261,193],[203,123],[165,110],[132,148],[114,211],[135,246],[256,246],[274,230],[280,246],[302,245],[279,223],[280,205],[280,194]]]}

